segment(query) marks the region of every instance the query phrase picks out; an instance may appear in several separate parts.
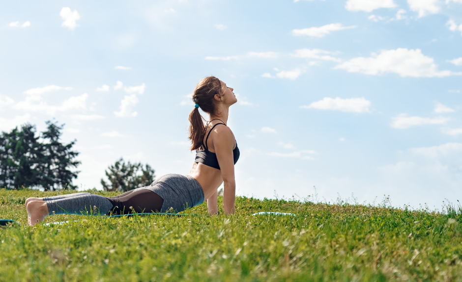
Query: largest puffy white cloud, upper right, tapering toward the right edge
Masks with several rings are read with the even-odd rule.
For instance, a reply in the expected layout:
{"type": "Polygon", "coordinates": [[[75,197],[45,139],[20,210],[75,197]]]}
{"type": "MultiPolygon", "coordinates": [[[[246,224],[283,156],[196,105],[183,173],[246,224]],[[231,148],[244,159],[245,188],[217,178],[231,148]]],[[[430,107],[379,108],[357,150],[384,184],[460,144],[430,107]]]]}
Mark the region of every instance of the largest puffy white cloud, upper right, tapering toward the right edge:
{"type": "Polygon", "coordinates": [[[366,75],[380,75],[383,73],[396,73],[402,77],[448,77],[462,75],[461,72],[438,71],[433,58],[422,54],[420,49],[381,51],[372,53],[371,57],[356,57],[335,67],[350,73],[359,72],[366,75]]]}

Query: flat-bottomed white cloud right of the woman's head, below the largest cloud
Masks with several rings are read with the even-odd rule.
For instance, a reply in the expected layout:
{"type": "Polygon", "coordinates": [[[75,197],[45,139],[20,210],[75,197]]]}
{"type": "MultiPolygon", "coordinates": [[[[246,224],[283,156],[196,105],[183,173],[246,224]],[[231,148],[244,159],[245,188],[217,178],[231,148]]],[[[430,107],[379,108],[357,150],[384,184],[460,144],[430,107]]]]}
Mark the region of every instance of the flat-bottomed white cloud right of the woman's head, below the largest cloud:
{"type": "Polygon", "coordinates": [[[338,110],[343,112],[354,112],[354,113],[367,113],[371,101],[362,98],[347,98],[341,99],[339,97],[332,99],[325,97],[324,99],[313,102],[308,106],[300,106],[305,109],[321,109],[321,110],[338,110]]]}

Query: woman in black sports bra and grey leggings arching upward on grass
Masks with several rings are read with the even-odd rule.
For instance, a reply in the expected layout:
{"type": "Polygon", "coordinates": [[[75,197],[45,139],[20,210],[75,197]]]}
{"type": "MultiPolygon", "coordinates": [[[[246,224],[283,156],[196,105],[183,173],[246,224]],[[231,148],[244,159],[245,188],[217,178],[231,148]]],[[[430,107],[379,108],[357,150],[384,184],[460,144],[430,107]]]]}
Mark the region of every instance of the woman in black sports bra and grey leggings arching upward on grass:
{"type": "Polygon", "coordinates": [[[26,209],[29,225],[52,214],[129,214],[132,212],[183,211],[207,201],[209,214],[218,214],[217,189],[224,183],[225,213],[234,213],[236,182],[234,164],[239,149],[228,122],[230,106],[237,102],[233,89],[217,77],[205,77],[193,93],[194,109],[189,114],[191,151],[196,161],[188,175],[168,174],[150,186],[115,197],[77,193],[46,198],[29,198],[26,209]],[[210,114],[204,125],[199,107],[210,114]]]}

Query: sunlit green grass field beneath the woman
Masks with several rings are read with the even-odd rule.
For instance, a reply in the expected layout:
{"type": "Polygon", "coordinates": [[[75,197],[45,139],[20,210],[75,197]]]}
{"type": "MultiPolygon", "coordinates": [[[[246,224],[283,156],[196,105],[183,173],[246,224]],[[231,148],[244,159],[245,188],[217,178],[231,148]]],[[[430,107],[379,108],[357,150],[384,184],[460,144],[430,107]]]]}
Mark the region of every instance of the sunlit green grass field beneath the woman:
{"type": "MultiPolygon", "coordinates": [[[[461,209],[238,197],[236,214],[104,218],[56,215],[27,226],[28,197],[0,189],[0,281],[462,281],[461,209]],[[296,216],[252,216],[281,211],[296,216]]],[[[113,196],[115,193],[98,192],[113,196]]],[[[219,199],[220,201],[221,199],[219,199]]]]}

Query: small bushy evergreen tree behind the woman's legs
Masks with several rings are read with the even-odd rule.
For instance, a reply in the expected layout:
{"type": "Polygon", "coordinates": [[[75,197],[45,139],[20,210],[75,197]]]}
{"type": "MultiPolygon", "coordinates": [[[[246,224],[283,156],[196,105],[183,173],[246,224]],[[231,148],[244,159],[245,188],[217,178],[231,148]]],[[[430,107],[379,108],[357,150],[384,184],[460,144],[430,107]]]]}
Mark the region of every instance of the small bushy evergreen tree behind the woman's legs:
{"type": "Polygon", "coordinates": [[[101,179],[103,189],[106,191],[126,192],[136,188],[150,185],[155,179],[155,171],[150,165],[144,167],[141,162],[131,163],[120,158],[106,171],[109,183],[101,179]],[[108,171],[109,170],[109,171],[108,171]]]}

